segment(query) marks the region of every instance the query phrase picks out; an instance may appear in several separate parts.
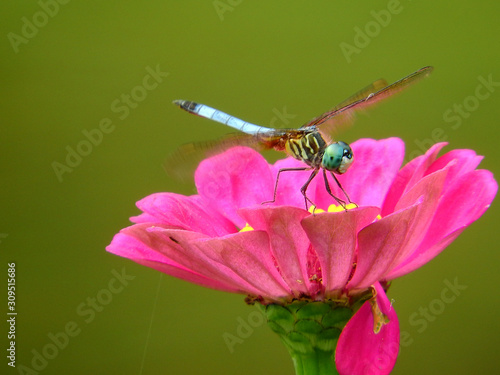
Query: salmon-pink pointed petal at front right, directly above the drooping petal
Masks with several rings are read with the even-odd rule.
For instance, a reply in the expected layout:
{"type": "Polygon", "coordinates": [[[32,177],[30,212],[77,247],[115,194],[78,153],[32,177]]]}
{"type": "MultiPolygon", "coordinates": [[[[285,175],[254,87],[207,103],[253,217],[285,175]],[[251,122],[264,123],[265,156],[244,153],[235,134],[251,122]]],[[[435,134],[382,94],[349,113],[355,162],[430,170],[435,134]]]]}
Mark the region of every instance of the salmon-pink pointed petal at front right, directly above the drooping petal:
{"type": "Polygon", "coordinates": [[[348,289],[368,288],[390,271],[397,254],[406,245],[420,205],[421,201],[359,232],[357,265],[348,289]]]}

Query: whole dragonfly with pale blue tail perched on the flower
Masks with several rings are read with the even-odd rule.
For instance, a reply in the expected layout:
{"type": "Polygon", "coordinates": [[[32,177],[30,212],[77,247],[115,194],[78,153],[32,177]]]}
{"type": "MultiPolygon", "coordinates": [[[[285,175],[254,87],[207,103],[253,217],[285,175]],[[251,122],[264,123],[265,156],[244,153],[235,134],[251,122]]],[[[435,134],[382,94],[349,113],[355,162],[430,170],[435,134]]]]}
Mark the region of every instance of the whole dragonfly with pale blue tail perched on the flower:
{"type": "Polygon", "coordinates": [[[193,159],[193,156],[201,159],[204,156],[214,155],[239,145],[249,146],[257,150],[274,149],[283,151],[305,165],[297,168],[280,169],[275,181],[273,199],[262,203],[275,202],[281,173],[310,170],[311,174],[309,178],[300,188],[300,192],[304,197],[306,210],[308,209],[308,204],[313,208],[316,207],[314,202],[307,196],[307,188],[320,171],[323,174],[327,193],[340,206],[347,210],[347,202],[353,202],[336,175],[342,175],[347,172],[354,161],[354,154],[346,142],[334,141],[332,134],[336,133],[340,127],[350,125],[356,112],[363,111],[381,100],[399,93],[411,84],[427,77],[432,70],[431,66],[426,66],[390,85],[384,79],[379,79],[298,129],[273,129],[259,126],[240,120],[205,104],[189,100],[175,100],[174,104],[181,109],[194,115],[220,122],[239,130],[241,133],[221,140],[191,143],[181,146],[167,159],[166,169],[167,171],[185,170],[183,165],[187,160],[193,159]],[[333,180],[344,194],[346,200],[333,194],[328,182],[327,173],[333,177],[333,180]]]}

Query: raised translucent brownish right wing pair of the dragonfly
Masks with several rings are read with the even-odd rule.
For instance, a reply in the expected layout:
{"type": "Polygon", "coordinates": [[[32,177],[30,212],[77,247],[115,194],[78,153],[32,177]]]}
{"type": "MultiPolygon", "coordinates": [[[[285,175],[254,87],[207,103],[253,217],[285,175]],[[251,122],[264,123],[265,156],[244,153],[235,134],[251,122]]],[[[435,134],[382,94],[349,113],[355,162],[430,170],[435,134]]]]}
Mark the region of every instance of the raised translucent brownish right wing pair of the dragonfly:
{"type": "Polygon", "coordinates": [[[338,128],[350,125],[356,112],[365,110],[381,100],[401,92],[411,84],[427,77],[432,70],[431,66],[426,66],[389,86],[383,79],[375,81],[331,110],[309,121],[302,128],[317,127],[322,135],[328,137],[338,128]]]}

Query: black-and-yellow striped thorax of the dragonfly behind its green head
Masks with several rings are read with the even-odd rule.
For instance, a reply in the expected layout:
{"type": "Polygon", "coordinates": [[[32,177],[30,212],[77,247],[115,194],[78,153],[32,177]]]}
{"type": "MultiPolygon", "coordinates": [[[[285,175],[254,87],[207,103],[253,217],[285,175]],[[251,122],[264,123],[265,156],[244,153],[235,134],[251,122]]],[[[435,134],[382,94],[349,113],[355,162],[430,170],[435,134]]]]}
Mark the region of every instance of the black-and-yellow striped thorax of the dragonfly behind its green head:
{"type": "Polygon", "coordinates": [[[319,167],[326,146],[321,134],[315,131],[299,138],[288,139],[285,150],[295,159],[303,161],[311,167],[319,167]]]}

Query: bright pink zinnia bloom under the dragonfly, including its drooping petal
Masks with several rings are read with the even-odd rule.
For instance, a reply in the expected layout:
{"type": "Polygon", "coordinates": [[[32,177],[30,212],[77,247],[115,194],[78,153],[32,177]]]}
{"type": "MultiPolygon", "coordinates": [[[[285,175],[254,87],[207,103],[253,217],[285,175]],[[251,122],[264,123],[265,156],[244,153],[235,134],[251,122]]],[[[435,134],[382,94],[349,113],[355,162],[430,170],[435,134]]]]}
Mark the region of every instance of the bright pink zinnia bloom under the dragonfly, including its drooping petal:
{"type": "MultiPolygon", "coordinates": [[[[198,195],[157,193],[139,201],[143,213],[107,250],[264,304],[304,296],[349,300],[372,290],[388,321],[375,332],[374,303],[364,303],[340,335],[336,365],[341,374],[387,374],[399,349],[387,282],[438,255],[486,211],[498,189],[491,172],[476,170],[481,156],[454,150],[437,157],[445,145],[399,169],[400,139],[355,142],[355,163],[338,178],[359,207],[314,215],[300,193],[310,172],[282,173],[275,203],[261,204],[273,198],[278,170],[300,162],[270,165],[253,150],[233,148],[200,164],[198,195]],[[242,231],[246,225],[253,230],[242,231]]],[[[307,194],[319,209],[334,203],[321,176],[307,194]]]]}

